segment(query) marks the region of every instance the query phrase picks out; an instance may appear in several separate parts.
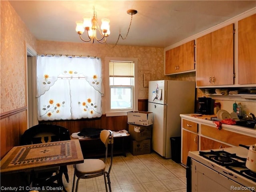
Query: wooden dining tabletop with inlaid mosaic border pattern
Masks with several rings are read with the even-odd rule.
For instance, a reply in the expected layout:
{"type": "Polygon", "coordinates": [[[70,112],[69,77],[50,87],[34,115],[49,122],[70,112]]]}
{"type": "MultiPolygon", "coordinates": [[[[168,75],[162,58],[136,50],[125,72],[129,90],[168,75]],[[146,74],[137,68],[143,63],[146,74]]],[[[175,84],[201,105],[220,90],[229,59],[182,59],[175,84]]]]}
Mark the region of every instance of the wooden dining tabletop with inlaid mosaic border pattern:
{"type": "Polygon", "coordinates": [[[40,168],[83,162],[84,157],[78,140],[31,144],[13,147],[0,161],[0,172],[1,175],[31,172],[40,168]]]}

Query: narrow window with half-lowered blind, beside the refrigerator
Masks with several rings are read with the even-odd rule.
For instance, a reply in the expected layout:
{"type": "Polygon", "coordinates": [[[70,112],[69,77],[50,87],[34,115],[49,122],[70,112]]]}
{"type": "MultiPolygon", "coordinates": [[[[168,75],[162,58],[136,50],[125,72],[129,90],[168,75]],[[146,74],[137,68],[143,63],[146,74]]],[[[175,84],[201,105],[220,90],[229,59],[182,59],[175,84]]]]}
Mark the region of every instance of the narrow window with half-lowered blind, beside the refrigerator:
{"type": "Polygon", "coordinates": [[[106,115],[127,115],[138,108],[137,64],[135,58],[106,58],[106,115]]]}

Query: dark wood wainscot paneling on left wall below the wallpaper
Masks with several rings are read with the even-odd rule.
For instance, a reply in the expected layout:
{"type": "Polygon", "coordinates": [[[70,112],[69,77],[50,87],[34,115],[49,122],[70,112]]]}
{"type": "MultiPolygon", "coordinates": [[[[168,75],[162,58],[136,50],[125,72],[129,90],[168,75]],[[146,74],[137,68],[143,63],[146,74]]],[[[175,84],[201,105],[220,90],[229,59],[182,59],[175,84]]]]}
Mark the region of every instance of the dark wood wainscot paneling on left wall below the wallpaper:
{"type": "Polygon", "coordinates": [[[0,115],[1,159],[14,147],[20,145],[20,136],[28,128],[27,107],[22,107],[0,115]]]}

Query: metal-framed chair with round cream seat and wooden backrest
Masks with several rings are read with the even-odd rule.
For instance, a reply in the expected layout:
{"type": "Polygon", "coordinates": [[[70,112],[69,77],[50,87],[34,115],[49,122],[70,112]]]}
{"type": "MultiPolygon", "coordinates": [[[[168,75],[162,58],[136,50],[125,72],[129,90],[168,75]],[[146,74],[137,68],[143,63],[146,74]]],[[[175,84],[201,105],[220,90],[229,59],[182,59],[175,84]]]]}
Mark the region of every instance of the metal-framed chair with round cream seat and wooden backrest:
{"type": "Polygon", "coordinates": [[[112,168],[112,161],[113,161],[113,144],[114,144],[113,132],[110,130],[102,130],[100,133],[100,140],[103,142],[103,144],[106,147],[104,161],[100,159],[84,159],[84,163],[76,164],[75,171],[74,171],[72,192],[74,191],[76,177],[77,177],[76,192],[77,192],[80,179],[94,178],[102,175],[104,175],[106,192],[108,192],[108,188],[111,192],[110,171],[112,168]],[[110,146],[110,165],[108,170],[106,170],[108,146],[110,146]],[[106,180],[106,178],[108,181],[106,180]],[[108,183],[108,186],[107,186],[107,183],[108,183]]]}

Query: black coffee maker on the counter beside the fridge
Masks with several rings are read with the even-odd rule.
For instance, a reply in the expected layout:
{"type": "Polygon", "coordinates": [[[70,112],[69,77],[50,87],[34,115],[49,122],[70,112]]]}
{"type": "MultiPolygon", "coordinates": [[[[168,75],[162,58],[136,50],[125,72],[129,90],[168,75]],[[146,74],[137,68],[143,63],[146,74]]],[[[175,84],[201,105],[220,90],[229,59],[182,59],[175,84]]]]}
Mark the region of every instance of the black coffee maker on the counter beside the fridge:
{"type": "Polygon", "coordinates": [[[203,115],[214,114],[214,100],[210,97],[198,97],[198,113],[203,115]]]}

